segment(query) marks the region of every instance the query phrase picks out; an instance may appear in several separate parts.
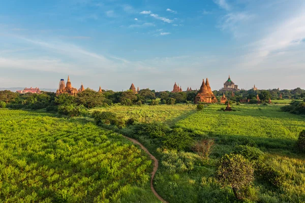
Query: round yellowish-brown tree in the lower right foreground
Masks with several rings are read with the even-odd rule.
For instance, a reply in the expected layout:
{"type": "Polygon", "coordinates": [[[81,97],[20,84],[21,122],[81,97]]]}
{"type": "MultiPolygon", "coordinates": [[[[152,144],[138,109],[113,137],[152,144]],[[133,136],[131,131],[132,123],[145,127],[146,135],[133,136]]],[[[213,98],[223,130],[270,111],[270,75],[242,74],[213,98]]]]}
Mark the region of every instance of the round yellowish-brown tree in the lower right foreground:
{"type": "Polygon", "coordinates": [[[254,170],[249,160],[240,154],[224,155],[217,168],[217,179],[225,187],[231,186],[237,199],[242,199],[240,191],[249,187],[254,179],[254,170]]]}

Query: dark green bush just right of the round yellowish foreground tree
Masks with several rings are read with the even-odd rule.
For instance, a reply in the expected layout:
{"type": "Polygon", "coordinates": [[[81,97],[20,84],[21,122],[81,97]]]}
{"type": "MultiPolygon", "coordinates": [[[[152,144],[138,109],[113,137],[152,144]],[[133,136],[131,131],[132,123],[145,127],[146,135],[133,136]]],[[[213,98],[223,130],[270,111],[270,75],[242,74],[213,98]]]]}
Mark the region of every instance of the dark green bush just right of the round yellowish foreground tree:
{"type": "Polygon", "coordinates": [[[282,186],[284,183],[284,175],[282,172],[261,161],[255,163],[255,175],[261,178],[261,180],[277,187],[282,186]]]}

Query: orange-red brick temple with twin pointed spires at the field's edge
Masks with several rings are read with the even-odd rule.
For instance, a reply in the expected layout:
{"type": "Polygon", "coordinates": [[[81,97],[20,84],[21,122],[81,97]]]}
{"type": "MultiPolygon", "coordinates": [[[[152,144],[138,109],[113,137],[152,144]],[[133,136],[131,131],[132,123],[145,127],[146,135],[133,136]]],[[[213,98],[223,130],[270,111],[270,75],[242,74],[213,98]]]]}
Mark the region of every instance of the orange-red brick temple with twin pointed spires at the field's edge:
{"type": "Polygon", "coordinates": [[[217,100],[216,96],[214,95],[214,93],[211,90],[208,79],[206,79],[205,83],[204,83],[204,79],[203,79],[200,90],[197,93],[197,96],[195,97],[195,104],[198,104],[200,102],[202,102],[202,103],[217,103],[217,101],[218,100],[217,100]]]}

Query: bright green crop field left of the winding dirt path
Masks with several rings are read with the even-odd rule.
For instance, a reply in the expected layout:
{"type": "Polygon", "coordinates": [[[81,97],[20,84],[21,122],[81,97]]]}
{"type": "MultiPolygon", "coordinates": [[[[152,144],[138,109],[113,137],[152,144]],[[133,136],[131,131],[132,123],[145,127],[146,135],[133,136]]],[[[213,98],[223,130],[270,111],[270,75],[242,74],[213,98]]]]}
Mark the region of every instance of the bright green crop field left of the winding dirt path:
{"type": "Polygon", "coordinates": [[[151,160],[82,119],[0,109],[0,202],[158,202],[151,160]]]}

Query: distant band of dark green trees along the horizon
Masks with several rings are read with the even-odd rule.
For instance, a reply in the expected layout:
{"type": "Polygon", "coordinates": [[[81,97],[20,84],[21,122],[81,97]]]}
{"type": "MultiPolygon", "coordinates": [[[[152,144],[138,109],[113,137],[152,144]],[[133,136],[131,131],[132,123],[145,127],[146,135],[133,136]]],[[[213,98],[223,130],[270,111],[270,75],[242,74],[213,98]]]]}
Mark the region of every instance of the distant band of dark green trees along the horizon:
{"type": "MultiPolygon", "coordinates": [[[[240,99],[251,99],[256,103],[257,94],[262,102],[271,99],[280,99],[282,93],[283,99],[304,99],[305,90],[296,88],[293,90],[240,90],[232,92],[224,92],[231,100],[239,102],[240,99]]],[[[112,90],[102,93],[92,89],[86,89],[79,92],[76,96],[69,94],[55,95],[54,92],[44,92],[41,94],[19,94],[9,90],[0,91],[0,107],[12,109],[46,109],[47,111],[55,111],[61,114],[76,116],[85,112],[85,109],[95,107],[107,107],[114,104],[125,106],[132,105],[174,105],[174,104],[194,104],[197,91],[188,92],[156,92],[155,90],[142,89],[137,94],[131,90],[114,92],[112,90]]],[[[214,94],[220,100],[223,95],[221,91],[214,91],[214,94]]],[[[300,101],[302,105],[302,101],[300,101]]],[[[299,105],[299,104],[298,104],[299,105]]],[[[296,112],[294,110],[294,112],[296,112]]]]}

